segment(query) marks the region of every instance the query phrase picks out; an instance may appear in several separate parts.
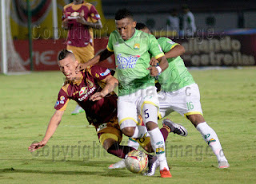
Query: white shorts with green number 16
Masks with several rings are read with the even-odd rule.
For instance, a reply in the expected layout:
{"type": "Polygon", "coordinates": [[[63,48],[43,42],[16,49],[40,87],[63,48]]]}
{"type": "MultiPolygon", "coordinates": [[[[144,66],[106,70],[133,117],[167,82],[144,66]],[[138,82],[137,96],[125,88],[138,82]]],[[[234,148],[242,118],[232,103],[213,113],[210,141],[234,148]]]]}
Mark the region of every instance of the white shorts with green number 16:
{"type": "Polygon", "coordinates": [[[201,114],[200,92],[198,84],[190,84],[174,92],[158,92],[159,118],[178,112],[187,115],[201,114]]]}

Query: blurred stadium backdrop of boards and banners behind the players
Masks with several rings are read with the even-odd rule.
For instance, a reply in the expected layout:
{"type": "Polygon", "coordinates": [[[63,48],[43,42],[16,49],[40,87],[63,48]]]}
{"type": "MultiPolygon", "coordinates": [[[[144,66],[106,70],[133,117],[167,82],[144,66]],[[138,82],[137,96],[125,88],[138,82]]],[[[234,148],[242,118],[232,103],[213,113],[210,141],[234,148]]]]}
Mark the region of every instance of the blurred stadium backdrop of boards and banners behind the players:
{"type": "MultiPolygon", "coordinates": [[[[53,39],[53,10],[50,0],[30,0],[34,70],[58,70],[57,54],[66,47],[66,31],[61,28],[62,7],[70,0],[58,0],[58,38],[53,39]]],[[[256,65],[255,1],[167,1],[91,0],[102,18],[102,30],[95,30],[95,53],[105,49],[107,36],[115,29],[114,12],[126,7],[137,22],[145,22],[158,37],[170,37],[184,45],[186,66],[256,65]],[[182,37],[166,29],[172,8],[181,13],[186,3],[198,28],[194,38],[182,37]]],[[[14,46],[27,70],[30,70],[26,0],[11,2],[10,25],[14,46]]],[[[114,57],[103,65],[114,68],[114,57]]]]}

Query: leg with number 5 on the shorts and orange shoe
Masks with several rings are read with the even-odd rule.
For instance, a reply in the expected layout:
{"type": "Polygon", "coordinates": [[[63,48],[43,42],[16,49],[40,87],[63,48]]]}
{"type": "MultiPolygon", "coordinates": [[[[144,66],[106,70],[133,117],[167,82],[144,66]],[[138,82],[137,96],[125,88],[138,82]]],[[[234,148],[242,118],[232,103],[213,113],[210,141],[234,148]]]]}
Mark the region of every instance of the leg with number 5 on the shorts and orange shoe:
{"type": "Polygon", "coordinates": [[[158,128],[158,96],[154,87],[142,90],[142,100],[139,105],[143,122],[150,135],[150,143],[160,162],[161,177],[170,178],[171,174],[166,161],[165,142],[158,128]]]}

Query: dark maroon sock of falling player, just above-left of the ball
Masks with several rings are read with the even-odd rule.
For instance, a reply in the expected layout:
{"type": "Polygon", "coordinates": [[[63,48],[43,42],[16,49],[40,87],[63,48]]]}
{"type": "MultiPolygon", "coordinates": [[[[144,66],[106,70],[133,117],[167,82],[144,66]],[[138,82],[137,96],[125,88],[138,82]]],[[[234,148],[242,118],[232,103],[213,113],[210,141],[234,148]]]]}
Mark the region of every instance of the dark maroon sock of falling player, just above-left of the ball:
{"type": "Polygon", "coordinates": [[[115,155],[121,159],[125,159],[125,156],[127,153],[130,151],[135,150],[134,147],[128,147],[128,146],[122,146],[118,143],[114,143],[108,150],[107,152],[115,155]]]}

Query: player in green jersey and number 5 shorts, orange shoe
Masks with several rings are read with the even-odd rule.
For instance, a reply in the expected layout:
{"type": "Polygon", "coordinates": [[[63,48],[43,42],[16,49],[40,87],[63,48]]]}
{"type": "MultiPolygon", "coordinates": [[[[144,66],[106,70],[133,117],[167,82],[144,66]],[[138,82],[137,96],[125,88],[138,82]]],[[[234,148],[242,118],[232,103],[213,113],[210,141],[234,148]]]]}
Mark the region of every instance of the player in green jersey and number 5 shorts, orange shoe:
{"type": "Polygon", "coordinates": [[[118,10],[115,22],[117,30],[110,34],[107,48],[79,67],[94,65],[114,53],[119,82],[118,122],[122,133],[138,139],[147,131],[160,162],[161,176],[170,178],[165,143],[158,128],[158,96],[154,87],[154,76],[164,71],[168,62],[156,38],[135,29],[130,11],[118,10]],[[150,54],[158,59],[158,67],[150,67],[150,54]],[[138,114],[142,115],[145,127],[138,125],[138,114]]]}

